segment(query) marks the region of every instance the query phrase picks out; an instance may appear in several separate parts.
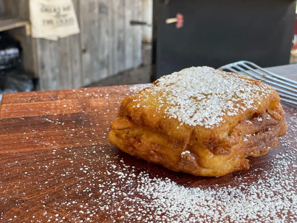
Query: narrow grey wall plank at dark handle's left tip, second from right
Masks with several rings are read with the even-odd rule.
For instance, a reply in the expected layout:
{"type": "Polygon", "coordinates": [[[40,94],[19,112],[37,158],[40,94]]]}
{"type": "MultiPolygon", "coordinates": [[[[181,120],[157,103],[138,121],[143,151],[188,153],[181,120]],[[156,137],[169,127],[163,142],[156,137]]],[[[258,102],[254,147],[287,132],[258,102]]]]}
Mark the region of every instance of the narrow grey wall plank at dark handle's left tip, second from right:
{"type": "Polygon", "coordinates": [[[125,1],[125,68],[134,67],[134,39],[130,21],[133,19],[134,1],[125,1]]]}

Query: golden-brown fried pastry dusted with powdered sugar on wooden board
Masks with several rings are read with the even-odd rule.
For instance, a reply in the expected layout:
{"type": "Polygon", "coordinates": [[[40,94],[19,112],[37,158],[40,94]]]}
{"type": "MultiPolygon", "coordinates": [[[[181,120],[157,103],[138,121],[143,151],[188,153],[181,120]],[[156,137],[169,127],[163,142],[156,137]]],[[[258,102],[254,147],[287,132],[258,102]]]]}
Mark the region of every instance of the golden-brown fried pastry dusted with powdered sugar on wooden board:
{"type": "Polygon", "coordinates": [[[278,93],[269,85],[191,67],[163,76],[125,98],[110,143],[173,171],[222,176],[249,169],[287,131],[278,93]]]}

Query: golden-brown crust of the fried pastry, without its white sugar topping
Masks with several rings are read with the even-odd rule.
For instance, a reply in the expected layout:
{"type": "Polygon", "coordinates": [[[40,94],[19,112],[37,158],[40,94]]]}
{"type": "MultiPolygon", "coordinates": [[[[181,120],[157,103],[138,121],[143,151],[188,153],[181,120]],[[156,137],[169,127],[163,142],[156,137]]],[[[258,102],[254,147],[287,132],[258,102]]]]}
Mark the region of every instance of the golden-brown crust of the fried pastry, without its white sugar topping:
{"type": "MultiPolygon", "coordinates": [[[[220,78],[228,79],[225,74],[216,73],[220,78]]],[[[260,81],[231,75],[235,81],[243,79],[243,83],[251,89],[250,94],[256,92],[258,98],[253,96],[244,101],[239,97],[232,101],[230,109],[225,109],[224,114],[219,116],[219,122],[210,125],[206,117],[204,123],[193,125],[178,120],[187,116],[170,117],[173,113],[168,115],[166,109],[170,108],[171,102],[164,89],[149,87],[123,100],[118,118],[111,124],[110,143],[132,156],[194,175],[221,176],[248,169],[246,158],[263,156],[277,146],[278,137],[287,131],[287,124],[279,95],[273,88],[260,81]],[[263,90],[265,94],[261,92],[263,90]],[[239,109],[234,112],[232,106],[239,109]],[[228,115],[230,112],[233,114],[228,115]]],[[[156,86],[158,82],[154,84],[156,86]]],[[[206,100],[208,97],[211,98],[207,96],[206,100]]],[[[234,98],[234,95],[231,97],[234,98]]],[[[195,100],[197,102],[198,97],[195,96],[193,103],[195,100]]],[[[183,111],[182,108],[180,111],[183,111]]]]}

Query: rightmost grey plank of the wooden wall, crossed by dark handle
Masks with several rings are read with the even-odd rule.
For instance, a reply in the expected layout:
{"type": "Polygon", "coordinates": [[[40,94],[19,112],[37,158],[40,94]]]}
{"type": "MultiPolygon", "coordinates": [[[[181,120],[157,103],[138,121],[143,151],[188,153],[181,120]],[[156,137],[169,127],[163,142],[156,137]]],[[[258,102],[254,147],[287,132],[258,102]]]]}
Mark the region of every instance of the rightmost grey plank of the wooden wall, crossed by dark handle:
{"type": "MultiPolygon", "coordinates": [[[[141,1],[134,0],[135,8],[134,8],[134,19],[136,21],[141,21],[141,1]]],[[[138,67],[142,62],[141,57],[141,26],[133,26],[134,29],[134,67],[138,67]]]]}

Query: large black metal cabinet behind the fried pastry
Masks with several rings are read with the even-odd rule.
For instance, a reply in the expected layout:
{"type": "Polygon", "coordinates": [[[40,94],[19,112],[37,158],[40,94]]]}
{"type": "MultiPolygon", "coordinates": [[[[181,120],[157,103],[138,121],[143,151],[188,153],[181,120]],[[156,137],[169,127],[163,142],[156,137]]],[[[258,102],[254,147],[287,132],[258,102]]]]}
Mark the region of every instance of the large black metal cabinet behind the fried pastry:
{"type": "Polygon", "coordinates": [[[296,1],[154,0],[152,79],[191,66],[289,63],[296,1]],[[165,23],[181,13],[183,27],[165,23]]]}

